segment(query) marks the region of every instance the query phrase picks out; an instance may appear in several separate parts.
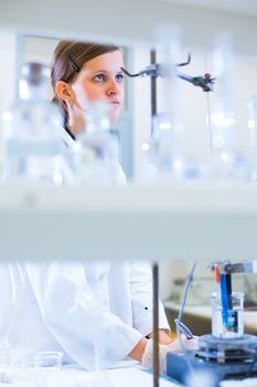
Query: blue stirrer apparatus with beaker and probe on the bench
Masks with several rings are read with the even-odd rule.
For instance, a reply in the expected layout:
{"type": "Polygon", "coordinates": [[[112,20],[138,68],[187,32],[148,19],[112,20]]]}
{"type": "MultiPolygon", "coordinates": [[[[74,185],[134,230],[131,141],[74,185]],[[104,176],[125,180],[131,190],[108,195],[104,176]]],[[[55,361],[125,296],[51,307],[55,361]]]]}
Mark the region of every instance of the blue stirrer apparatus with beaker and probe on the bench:
{"type": "Polygon", "coordinates": [[[180,383],[195,370],[215,374],[216,385],[257,375],[257,337],[244,334],[244,293],[233,292],[232,286],[232,274],[256,273],[257,261],[218,261],[211,268],[217,286],[211,296],[212,334],[199,337],[197,351],[167,356],[167,374],[180,383]]]}

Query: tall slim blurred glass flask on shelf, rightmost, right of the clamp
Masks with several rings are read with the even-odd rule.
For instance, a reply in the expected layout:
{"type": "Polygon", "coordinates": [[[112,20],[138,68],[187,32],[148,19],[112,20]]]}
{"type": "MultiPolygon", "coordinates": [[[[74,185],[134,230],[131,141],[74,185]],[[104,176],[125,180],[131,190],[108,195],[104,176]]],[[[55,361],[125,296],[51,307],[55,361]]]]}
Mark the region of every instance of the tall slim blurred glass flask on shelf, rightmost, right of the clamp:
{"type": "Polygon", "coordinates": [[[247,180],[248,161],[236,143],[232,36],[219,33],[213,49],[215,91],[211,100],[211,177],[247,180]]]}

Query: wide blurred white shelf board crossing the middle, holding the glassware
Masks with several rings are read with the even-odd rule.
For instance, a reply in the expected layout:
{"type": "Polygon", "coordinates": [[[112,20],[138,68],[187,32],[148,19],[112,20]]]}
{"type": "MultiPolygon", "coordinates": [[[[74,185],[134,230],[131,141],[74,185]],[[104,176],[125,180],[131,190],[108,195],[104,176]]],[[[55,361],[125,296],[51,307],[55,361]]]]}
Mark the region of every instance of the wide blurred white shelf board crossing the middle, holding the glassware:
{"type": "Polygon", "coordinates": [[[2,185],[1,260],[257,259],[257,188],[2,185]]]}

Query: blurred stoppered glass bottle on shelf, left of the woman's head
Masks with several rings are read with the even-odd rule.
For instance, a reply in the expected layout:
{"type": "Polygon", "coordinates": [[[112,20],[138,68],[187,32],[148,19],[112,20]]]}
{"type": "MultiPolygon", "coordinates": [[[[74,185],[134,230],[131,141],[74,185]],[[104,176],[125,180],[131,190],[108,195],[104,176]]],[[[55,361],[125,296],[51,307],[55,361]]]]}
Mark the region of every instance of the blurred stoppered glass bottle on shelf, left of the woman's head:
{"type": "Polygon", "coordinates": [[[2,180],[63,182],[62,115],[46,100],[49,69],[40,63],[22,66],[19,97],[2,114],[2,180]]]}

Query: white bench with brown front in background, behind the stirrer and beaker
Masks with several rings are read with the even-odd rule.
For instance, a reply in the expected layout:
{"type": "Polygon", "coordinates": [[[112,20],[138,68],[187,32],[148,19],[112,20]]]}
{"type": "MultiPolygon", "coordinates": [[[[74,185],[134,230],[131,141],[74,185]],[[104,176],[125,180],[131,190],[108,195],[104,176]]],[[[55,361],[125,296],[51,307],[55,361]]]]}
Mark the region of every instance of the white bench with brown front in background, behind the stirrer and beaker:
{"type": "MultiPolygon", "coordinates": [[[[174,327],[174,318],[178,318],[180,304],[174,301],[164,301],[164,308],[171,328],[174,327]]],[[[212,306],[211,305],[185,305],[182,321],[194,335],[205,335],[212,332],[212,306]]],[[[257,310],[244,311],[245,333],[257,335],[257,310]]]]}

